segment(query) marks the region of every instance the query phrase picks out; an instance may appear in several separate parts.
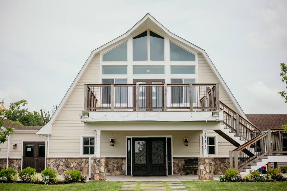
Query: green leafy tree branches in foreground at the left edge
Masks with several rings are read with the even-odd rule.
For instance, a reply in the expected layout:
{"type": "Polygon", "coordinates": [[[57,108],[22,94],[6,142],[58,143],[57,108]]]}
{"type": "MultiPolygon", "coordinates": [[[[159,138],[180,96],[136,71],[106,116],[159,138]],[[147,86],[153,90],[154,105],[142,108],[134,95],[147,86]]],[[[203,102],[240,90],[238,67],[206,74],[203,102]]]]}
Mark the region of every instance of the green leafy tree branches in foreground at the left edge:
{"type": "MultiPolygon", "coordinates": [[[[1,105],[4,104],[4,100],[0,102],[1,105]]],[[[19,121],[10,121],[7,118],[7,115],[10,115],[12,110],[15,110],[16,108],[20,108],[20,106],[25,106],[27,104],[26,100],[20,100],[14,103],[10,104],[9,110],[0,110],[0,128],[3,127],[4,124],[8,124],[8,127],[5,128],[5,130],[0,130],[0,144],[4,143],[8,140],[8,136],[13,133],[13,125],[21,125],[19,121]]],[[[0,149],[1,150],[1,149],[0,149]]]]}

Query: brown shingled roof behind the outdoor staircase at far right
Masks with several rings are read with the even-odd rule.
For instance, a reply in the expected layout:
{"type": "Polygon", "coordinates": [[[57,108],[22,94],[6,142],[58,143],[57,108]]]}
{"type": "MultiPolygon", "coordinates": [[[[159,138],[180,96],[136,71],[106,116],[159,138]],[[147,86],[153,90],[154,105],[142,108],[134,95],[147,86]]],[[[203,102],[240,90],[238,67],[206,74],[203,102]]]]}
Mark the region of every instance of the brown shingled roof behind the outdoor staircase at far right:
{"type": "Polygon", "coordinates": [[[287,114],[246,114],[247,118],[259,129],[283,129],[287,124],[287,114]]]}

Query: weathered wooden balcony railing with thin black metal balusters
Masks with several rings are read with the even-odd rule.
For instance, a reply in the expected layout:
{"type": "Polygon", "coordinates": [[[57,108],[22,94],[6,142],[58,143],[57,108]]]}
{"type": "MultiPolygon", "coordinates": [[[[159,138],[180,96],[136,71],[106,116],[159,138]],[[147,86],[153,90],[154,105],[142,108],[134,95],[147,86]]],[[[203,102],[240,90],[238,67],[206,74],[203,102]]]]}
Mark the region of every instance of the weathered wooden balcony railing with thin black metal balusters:
{"type": "Polygon", "coordinates": [[[85,84],[84,111],[218,110],[219,84],[85,84]]]}

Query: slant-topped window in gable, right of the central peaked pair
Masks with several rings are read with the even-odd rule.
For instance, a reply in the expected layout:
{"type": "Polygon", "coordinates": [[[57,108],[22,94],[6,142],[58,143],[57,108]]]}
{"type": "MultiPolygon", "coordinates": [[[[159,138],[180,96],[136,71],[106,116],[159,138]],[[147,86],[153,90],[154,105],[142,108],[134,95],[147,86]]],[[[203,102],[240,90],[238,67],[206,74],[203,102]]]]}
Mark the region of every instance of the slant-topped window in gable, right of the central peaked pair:
{"type": "Polygon", "coordinates": [[[170,61],[195,61],[195,55],[170,41],[170,61]]]}

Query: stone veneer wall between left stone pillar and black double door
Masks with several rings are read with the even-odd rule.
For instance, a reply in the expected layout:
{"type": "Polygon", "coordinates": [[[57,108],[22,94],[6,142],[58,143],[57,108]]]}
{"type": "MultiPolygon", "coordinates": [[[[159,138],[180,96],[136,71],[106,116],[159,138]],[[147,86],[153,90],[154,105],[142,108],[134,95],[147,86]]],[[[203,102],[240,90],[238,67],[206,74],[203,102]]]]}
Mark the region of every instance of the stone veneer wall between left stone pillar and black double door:
{"type": "Polygon", "coordinates": [[[126,158],[106,158],[106,175],[126,175],[126,158]]]}

